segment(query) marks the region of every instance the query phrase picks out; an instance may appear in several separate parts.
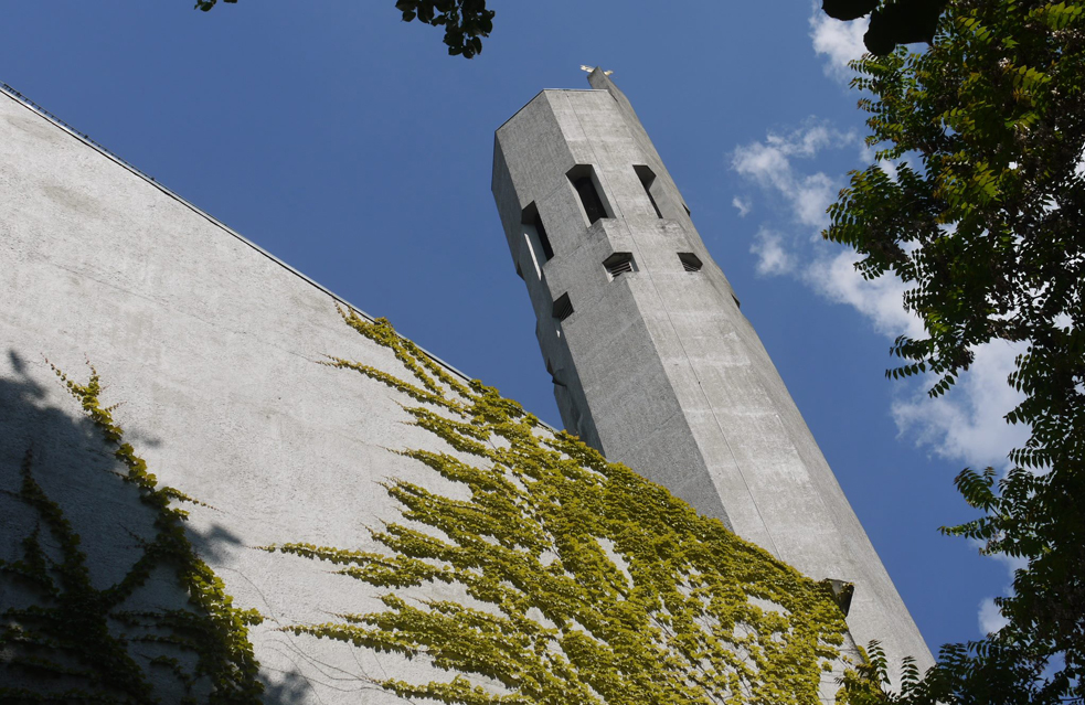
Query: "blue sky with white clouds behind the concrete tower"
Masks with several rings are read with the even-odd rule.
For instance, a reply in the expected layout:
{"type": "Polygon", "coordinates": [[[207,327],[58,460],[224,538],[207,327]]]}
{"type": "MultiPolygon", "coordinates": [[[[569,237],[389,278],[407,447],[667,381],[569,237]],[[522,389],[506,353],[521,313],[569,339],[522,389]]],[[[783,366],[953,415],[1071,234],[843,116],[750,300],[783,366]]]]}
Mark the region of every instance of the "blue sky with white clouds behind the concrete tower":
{"type": "MultiPolygon", "coordinates": [[[[861,26],[806,0],[491,0],[471,61],[393,0],[8,3],[0,81],[469,375],[560,426],[489,192],[493,130],[613,70],[932,649],[991,627],[1009,583],[937,527],[965,466],[1004,463],[1013,350],[948,399],[890,383],[901,286],[817,237],[865,165],[861,26]]],[[[886,164],[892,170],[892,164],[886,164]]]]}

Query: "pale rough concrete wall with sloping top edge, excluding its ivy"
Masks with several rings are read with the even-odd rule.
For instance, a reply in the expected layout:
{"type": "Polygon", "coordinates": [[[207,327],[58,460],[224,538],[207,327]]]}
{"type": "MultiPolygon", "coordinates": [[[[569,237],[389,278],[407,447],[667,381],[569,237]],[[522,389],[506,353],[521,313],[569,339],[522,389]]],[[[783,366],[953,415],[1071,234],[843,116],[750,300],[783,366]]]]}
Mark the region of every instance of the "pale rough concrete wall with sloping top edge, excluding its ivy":
{"type": "MultiPolygon", "coordinates": [[[[377,482],[434,483],[387,450],[439,445],[404,423],[411,400],[318,364],[326,354],[406,376],[343,324],[327,291],[0,93],[0,559],[34,526],[10,494],[28,448],[99,587],[138,554],[128,532],[146,535],[150,516],[106,472],[116,463],[44,359],[77,381],[89,361],[160,482],[214,508],[187,506],[191,535],[235,603],[270,617],[252,632],[268,702],[402,702],[359,679],[427,680],[421,662],[276,631],[379,608],[365,586],[254,548],[373,548],[365,527],[396,517],[377,482]]],[[[0,607],[24,599],[4,585],[0,607]]],[[[138,598],[185,601],[168,576],[138,598]]]]}

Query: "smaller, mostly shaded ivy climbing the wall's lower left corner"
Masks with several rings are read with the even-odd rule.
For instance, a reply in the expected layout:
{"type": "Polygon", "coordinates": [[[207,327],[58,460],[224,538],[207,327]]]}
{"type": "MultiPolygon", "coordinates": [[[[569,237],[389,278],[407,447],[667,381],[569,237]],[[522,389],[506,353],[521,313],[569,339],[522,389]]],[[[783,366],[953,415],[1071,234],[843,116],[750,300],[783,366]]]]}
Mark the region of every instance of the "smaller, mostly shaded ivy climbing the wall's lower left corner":
{"type": "Polygon", "coordinates": [[[195,703],[199,696],[212,704],[259,703],[263,684],[256,679],[247,626],[260,617],[232,607],[222,580],[185,536],[187,512],[172,504],[195,500],[159,487],[124,441],[113,408],[99,404],[102,386],[94,367],[85,385],[53,371],[119,461],[124,471],[117,474],[153,512],[155,535],[134,536],[142,551],[128,573],[109,587],[95,587],[79,535],[34,479],[33,452],[26,452],[22,485],[13,494],[39,521],[22,542],[22,557],[0,560],[0,578],[33,598],[30,605],[0,611],[0,702],[157,702],[150,674],[161,669],[180,682],[182,702],[195,703]],[[171,568],[188,592],[188,609],[126,609],[160,567],[171,568]],[[139,644],[164,645],[175,655],[141,655],[139,644]],[[19,682],[14,679],[34,686],[10,685],[19,682]]]}

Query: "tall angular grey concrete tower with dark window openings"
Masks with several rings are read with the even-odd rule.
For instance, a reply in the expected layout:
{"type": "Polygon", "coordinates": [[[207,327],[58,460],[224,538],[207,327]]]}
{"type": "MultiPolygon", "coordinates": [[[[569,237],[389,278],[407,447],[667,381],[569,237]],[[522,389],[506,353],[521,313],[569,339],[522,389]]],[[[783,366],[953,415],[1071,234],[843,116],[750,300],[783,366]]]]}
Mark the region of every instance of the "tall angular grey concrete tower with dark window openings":
{"type": "MultiPolygon", "coordinates": [[[[626,96],[543,90],[501,126],[493,197],[566,428],[816,578],[891,664],[918,629],[626,96]]],[[[895,680],[895,679],[894,679],[895,680]]]]}

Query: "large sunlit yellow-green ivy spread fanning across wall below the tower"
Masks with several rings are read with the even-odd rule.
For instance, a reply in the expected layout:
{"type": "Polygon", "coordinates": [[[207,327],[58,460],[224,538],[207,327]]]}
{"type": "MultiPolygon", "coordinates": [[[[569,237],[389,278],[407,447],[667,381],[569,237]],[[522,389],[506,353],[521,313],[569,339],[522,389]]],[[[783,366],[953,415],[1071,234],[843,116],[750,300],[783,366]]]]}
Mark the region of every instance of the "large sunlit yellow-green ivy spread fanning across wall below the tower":
{"type": "Polygon", "coordinates": [[[421,402],[406,412],[448,451],[397,452],[458,485],[465,499],[393,479],[385,488],[404,521],[373,530],[385,551],[267,547],[337,564],[343,576],[389,590],[383,611],[288,631],[424,658],[453,674],[374,680],[407,698],[818,702],[845,631],[828,585],[575,437],[551,432],[496,389],[462,384],[387,321],[341,313],[394,351],[413,381],[347,360],[328,364],[421,402]],[[434,583],[462,597],[407,597],[434,583]]]}

